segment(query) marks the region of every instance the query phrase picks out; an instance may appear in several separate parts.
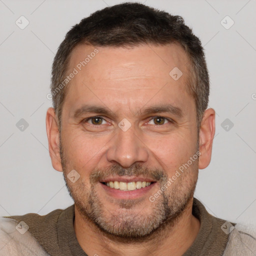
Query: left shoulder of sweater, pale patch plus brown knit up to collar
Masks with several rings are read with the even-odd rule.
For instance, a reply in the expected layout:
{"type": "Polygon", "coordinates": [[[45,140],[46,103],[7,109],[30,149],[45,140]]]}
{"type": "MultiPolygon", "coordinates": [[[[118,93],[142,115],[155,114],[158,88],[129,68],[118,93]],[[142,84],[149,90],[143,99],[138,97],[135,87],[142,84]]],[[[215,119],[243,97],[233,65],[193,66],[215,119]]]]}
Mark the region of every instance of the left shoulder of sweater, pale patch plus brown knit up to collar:
{"type": "Polygon", "coordinates": [[[73,205],[46,215],[27,213],[0,217],[0,256],[46,256],[49,244],[53,247],[51,251],[57,251],[58,219],[72,212],[73,205]]]}

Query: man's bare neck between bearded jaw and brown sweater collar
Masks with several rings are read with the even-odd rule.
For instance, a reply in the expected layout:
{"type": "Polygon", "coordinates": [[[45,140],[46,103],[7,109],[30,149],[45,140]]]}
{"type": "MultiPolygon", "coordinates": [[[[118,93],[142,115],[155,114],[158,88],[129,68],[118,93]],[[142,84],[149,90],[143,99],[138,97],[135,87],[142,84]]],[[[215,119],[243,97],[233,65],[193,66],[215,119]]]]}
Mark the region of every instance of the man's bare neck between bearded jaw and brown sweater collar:
{"type": "Polygon", "coordinates": [[[75,206],[76,238],[88,255],[146,256],[151,252],[155,256],[180,256],[191,246],[200,227],[199,220],[192,215],[192,202],[193,198],[175,222],[165,223],[148,237],[133,242],[122,242],[105,234],[94,223],[85,221],[75,206]]]}

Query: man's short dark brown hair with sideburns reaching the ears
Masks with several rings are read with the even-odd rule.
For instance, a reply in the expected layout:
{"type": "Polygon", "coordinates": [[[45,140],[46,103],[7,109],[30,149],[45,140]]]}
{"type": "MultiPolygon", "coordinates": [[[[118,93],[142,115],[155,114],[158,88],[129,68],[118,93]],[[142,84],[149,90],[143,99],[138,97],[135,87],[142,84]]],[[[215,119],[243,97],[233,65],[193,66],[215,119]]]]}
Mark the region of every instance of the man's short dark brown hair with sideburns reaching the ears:
{"type": "Polygon", "coordinates": [[[195,99],[197,127],[200,126],[209,96],[209,77],[203,48],[182,17],[146,6],[125,2],[95,11],[74,25],[58,47],[52,64],[52,103],[61,129],[61,111],[66,86],[59,85],[67,75],[72,50],[81,43],[94,46],[136,46],[143,43],[178,43],[190,60],[188,90],[195,99]],[[57,91],[57,93],[56,93],[57,91]]]}

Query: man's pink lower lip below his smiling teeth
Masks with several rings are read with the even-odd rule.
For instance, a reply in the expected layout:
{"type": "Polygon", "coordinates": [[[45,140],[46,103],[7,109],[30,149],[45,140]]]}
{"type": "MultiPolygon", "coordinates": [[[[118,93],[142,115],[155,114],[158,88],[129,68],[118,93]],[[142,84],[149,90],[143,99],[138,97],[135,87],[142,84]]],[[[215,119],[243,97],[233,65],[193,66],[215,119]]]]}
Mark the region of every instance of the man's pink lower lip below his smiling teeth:
{"type": "Polygon", "coordinates": [[[128,190],[128,191],[111,188],[107,185],[102,184],[101,182],[100,182],[100,185],[106,191],[106,193],[112,197],[120,198],[120,199],[133,199],[148,193],[148,191],[154,187],[155,183],[156,182],[153,182],[149,186],[141,187],[139,189],[134,189],[134,190],[128,190]]]}

